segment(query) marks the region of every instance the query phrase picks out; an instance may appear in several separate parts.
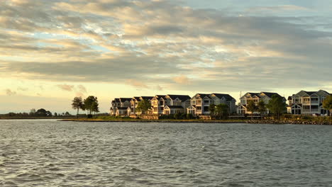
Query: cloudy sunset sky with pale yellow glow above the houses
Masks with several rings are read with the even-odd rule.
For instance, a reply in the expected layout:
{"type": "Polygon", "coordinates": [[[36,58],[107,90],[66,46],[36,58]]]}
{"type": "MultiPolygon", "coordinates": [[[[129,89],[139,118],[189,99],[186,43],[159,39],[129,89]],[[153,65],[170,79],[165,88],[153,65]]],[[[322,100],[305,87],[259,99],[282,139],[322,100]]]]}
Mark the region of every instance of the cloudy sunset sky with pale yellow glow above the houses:
{"type": "Polygon", "coordinates": [[[1,0],[0,113],[96,96],[332,92],[330,0],[1,0]]]}

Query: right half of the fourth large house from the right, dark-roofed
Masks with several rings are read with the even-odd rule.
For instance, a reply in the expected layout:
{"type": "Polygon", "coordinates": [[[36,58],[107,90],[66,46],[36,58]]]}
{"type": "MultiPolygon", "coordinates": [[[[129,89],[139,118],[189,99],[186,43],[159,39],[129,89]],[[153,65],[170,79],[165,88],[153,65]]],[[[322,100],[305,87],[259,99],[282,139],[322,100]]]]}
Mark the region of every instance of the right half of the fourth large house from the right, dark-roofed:
{"type": "Polygon", "coordinates": [[[187,95],[166,95],[163,114],[186,113],[190,106],[190,96],[187,95]]]}

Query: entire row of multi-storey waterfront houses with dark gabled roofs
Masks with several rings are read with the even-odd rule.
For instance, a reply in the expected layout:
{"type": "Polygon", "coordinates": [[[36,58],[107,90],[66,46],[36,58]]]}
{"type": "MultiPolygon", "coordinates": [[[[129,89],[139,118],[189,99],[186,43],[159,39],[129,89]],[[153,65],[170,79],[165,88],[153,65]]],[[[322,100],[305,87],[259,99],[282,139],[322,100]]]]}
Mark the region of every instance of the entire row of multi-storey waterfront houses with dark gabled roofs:
{"type": "MultiPolygon", "coordinates": [[[[138,102],[148,100],[151,108],[146,114],[150,115],[169,115],[175,113],[191,113],[192,115],[209,115],[211,104],[226,104],[229,113],[248,114],[246,106],[249,101],[258,104],[264,101],[269,103],[272,96],[280,94],[262,91],[260,93],[248,92],[240,97],[240,103],[236,105],[236,99],[229,94],[195,94],[193,97],[188,95],[156,95],[140,96],[133,98],[115,98],[111,102],[111,115],[140,115],[137,110],[138,102]]],[[[327,91],[299,91],[288,98],[287,112],[292,114],[320,114],[329,115],[329,112],[322,106],[324,99],[329,96],[327,91]]],[[[282,97],[282,96],[280,96],[282,97]]],[[[282,97],[286,103],[286,98],[282,97]]],[[[265,114],[270,113],[267,109],[265,114]]]]}

